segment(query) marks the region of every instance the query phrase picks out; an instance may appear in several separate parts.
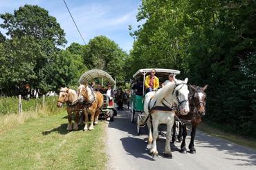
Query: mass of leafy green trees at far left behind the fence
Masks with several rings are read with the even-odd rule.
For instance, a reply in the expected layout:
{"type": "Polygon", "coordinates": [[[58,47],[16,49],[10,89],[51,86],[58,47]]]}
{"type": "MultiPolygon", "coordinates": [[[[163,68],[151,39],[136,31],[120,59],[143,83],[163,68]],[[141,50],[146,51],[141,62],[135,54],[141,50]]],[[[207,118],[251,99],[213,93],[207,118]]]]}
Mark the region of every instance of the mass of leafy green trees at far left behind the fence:
{"type": "Polygon", "coordinates": [[[0,34],[1,94],[20,94],[24,85],[45,94],[77,83],[82,56],[58,48],[66,39],[55,17],[30,5],[0,17],[1,28],[10,35],[10,39],[5,39],[0,34]]]}

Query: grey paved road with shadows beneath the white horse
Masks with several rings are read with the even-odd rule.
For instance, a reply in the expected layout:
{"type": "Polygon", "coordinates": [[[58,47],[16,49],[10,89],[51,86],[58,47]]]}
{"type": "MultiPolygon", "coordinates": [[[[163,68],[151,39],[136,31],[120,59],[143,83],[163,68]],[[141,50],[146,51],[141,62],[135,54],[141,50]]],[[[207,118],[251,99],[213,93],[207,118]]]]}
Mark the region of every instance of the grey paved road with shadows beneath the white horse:
{"type": "MultiPolygon", "coordinates": [[[[136,135],[136,124],[129,122],[128,110],[120,111],[107,127],[107,169],[256,169],[256,151],[197,131],[196,154],[182,154],[180,144],[172,146],[172,159],[163,157],[165,138],[157,142],[159,156],[149,155],[147,128],[136,135]],[[178,148],[177,148],[178,147],[178,148]]],[[[187,137],[190,140],[190,136],[187,137]]],[[[188,143],[188,142],[187,142],[188,143]]],[[[187,144],[188,149],[188,144],[187,144]]]]}

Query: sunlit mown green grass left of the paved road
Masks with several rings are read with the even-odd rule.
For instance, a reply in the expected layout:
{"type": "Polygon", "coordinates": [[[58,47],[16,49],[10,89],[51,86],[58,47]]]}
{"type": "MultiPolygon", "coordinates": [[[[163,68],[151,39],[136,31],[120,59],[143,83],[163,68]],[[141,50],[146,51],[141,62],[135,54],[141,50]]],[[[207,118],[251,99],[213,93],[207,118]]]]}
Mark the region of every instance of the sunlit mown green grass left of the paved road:
{"type": "Polygon", "coordinates": [[[65,117],[31,118],[1,133],[0,169],[104,169],[104,122],[67,132],[65,117]]]}

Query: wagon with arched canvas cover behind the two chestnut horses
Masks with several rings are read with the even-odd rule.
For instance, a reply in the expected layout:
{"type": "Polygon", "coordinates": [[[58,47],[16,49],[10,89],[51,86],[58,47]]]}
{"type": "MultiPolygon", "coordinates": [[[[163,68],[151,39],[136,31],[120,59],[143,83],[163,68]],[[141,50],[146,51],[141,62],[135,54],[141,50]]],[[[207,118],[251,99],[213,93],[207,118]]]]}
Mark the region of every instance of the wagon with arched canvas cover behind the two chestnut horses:
{"type": "MultiPolygon", "coordinates": [[[[104,79],[111,84],[113,89],[116,89],[116,81],[114,81],[114,79],[103,70],[89,70],[88,72],[85,72],[80,76],[78,83],[84,85],[89,84],[89,82],[93,81],[94,78],[102,78],[101,81],[104,79]]],[[[100,117],[106,119],[109,118],[110,121],[113,121],[114,116],[117,114],[114,105],[115,103],[113,98],[107,96],[107,94],[103,94],[103,105],[100,109],[100,117]]]]}

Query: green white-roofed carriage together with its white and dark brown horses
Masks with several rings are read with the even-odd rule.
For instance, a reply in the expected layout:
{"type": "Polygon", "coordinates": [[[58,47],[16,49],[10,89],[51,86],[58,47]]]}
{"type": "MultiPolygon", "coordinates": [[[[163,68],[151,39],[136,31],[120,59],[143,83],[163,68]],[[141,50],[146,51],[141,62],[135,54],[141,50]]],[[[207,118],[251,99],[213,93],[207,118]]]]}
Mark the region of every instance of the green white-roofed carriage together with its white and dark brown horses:
{"type": "MultiPolygon", "coordinates": [[[[179,74],[179,70],[156,70],[156,76],[160,82],[162,78],[167,79],[168,74],[179,74]]],[[[167,134],[165,142],[165,156],[172,158],[170,150],[170,141],[176,142],[176,123],[179,124],[179,142],[181,143],[181,153],[187,153],[185,147],[185,138],[187,136],[187,125],[192,125],[190,139],[190,153],[196,153],[194,148],[194,137],[196,127],[201,122],[205,114],[206,94],[204,87],[188,85],[188,78],[184,81],[178,80],[174,76],[174,81],[167,83],[157,92],[148,92],[145,94],[145,76],[152,69],[141,69],[134,74],[134,78],[143,77],[143,96],[132,95],[132,113],[131,122],[134,122],[134,115],[139,112],[137,118],[137,133],[140,134],[140,127],[147,125],[149,131],[148,147],[153,156],[158,154],[156,149],[156,139],[158,138],[158,125],[167,125],[167,134]],[[176,121],[176,123],[174,123],[176,121]],[[172,130],[174,133],[172,133],[172,130]],[[181,137],[181,139],[180,139],[181,137]],[[172,140],[171,140],[172,138],[172,140]]]]}

